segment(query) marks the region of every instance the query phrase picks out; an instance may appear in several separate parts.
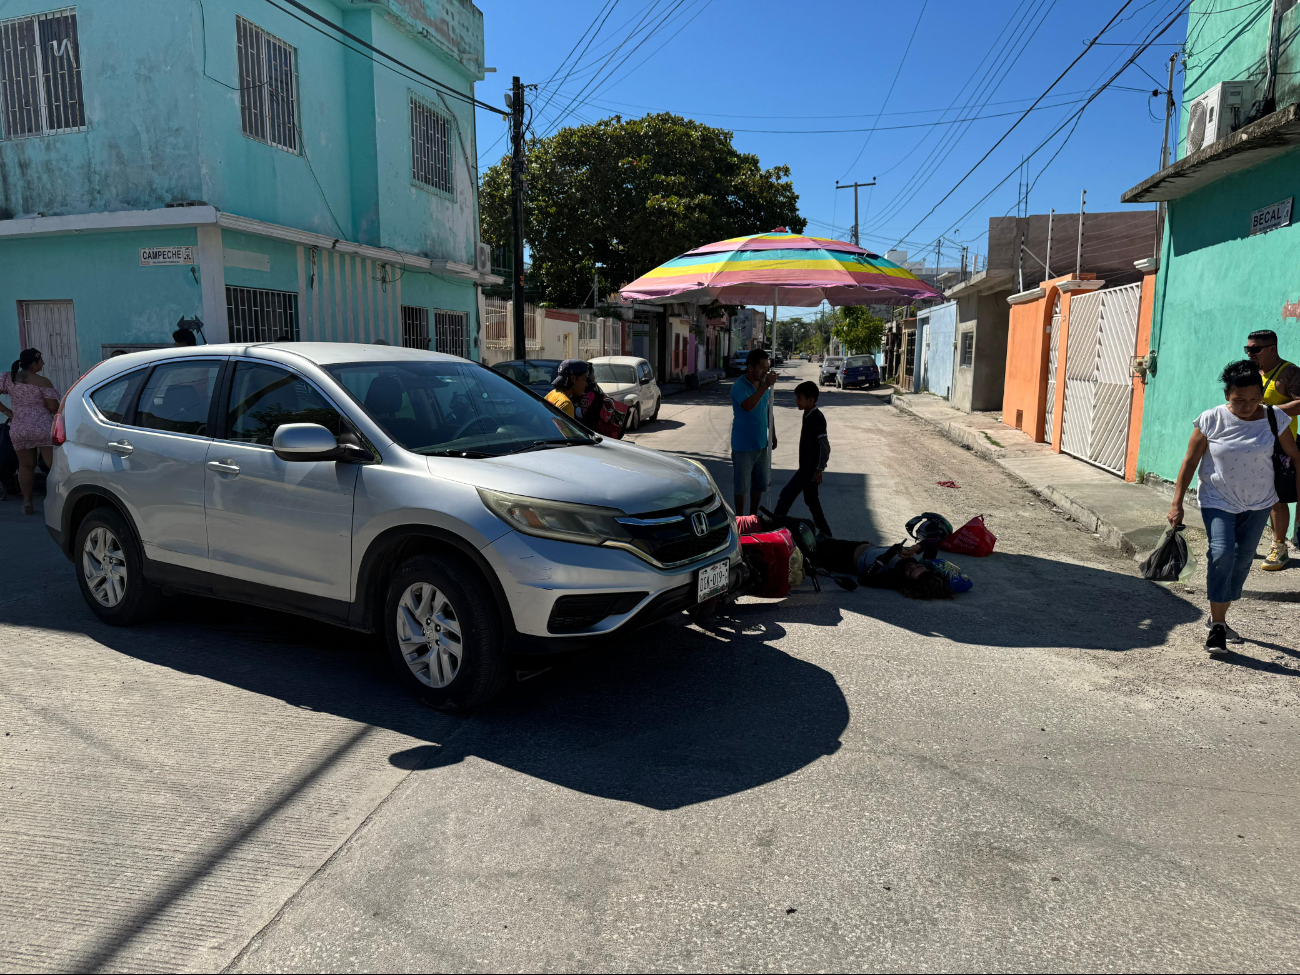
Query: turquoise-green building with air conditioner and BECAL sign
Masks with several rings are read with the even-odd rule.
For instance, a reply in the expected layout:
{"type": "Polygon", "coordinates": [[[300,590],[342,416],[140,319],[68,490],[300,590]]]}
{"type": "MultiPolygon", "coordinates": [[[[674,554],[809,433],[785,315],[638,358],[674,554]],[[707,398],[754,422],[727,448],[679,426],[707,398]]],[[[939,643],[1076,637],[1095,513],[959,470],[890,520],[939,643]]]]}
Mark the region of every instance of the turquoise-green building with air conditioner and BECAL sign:
{"type": "Polygon", "coordinates": [[[1249,332],[1273,329],[1300,361],[1297,16],[1295,0],[1191,5],[1175,161],[1122,198],[1167,205],[1139,476],[1178,476],[1192,420],[1223,402],[1218,373],[1249,332]]]}

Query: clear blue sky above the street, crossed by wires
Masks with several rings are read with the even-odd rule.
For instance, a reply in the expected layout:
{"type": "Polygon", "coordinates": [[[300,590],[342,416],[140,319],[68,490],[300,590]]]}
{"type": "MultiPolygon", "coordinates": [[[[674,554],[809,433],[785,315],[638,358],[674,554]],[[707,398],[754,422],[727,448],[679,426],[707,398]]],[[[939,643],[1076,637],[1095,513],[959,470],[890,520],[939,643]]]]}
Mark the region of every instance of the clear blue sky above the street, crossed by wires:
{"type": "MultiPolygon", "coordinates": [[[[554,78],[536,103],[550,99],[534,120],[538,133],[647,110],[725,127],[736,133],[737,148],[757,153],[764,166],[790,166],[809,233],[846,238],[853,194],[836,192],[835,183],[875,177],[879,185],[861,191],[863,246],[883,252],[902,239],[913,259],[924,255],[932,264],[942,237],[945,265],[959,243],[983,254],[988,218],[1015,212],[1022,156],[1030,156],[1031,212],[1074,212],[1082,188],[1092,212],[1126,209],[1119,194],[1158,168],[1165,103],[1150,92],[1164,87],[1169,56],[1187,34],[1180,0],[1132,0],[1102,35],[1106,46],[1088,51],[958,186],[1123,0],[618,0],[612,12],[612,0],[477,3],[488,64],[498,69],[477,94],[499,103],[511,75],[554,78]],[[566,55],[606,13],[566,79],[573,65],[566,55]],[[1066,143],[1082,100],[1131,57],[1132,42],[1171,18],[1114,88],[1078,117],[1066,143]],[[597,65],[607,68],[597,74],[597,65]],[[564,108],[572,113],[560,118],[564,108]],[[980,118],[935,125],[971,116],[980,118]]],[[[1180,87],[1179,69],[1175,95],[1180,87]]],[[[491,146],[504,125],[480,110],[478,126],[486,166],[507,147],[506,139],[491,146]]]]}

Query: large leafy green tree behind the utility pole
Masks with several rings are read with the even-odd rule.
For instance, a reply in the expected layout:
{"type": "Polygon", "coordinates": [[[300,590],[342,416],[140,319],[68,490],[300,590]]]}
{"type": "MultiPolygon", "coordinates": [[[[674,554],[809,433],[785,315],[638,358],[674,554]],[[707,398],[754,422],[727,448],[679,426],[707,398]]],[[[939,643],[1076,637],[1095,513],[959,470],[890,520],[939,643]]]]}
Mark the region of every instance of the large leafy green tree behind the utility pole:
{"type": "MultiPolygon", "coordinates": [[[[680,116],[619,116],[529,143],[524,239],[546,300],[590,300],[684,251],[788,226],[802,233],[789,166],[763,169],[732,134],[680,116]]],[[[482,176],[482,239],[511,242],[510,157],[482,176]]]]}

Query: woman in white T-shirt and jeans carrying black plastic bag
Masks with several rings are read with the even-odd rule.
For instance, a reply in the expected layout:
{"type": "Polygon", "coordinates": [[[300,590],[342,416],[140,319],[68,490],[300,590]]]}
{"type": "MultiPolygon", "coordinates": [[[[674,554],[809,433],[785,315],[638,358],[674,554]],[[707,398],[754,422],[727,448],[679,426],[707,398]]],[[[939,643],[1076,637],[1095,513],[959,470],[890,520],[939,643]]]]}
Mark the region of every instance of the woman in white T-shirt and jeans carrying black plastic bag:
{"type": "Polygon", "coordinates": [[[1226,654],[1228,640],[1242,642],[1227,627],[1227,610],[1242,598],[1260,534],[1278,502],[1274,443],[1296,464],[1300,478],[1300,448],[1286,417],[1269,422],[1273,407],[1264,406],[1264,382],[1254,363],[1249,359],[1232,363],[1219,378],[1227,402],[1196,417],[1169,510],[1169,523],[1183,524],[1183,497],[1192,473],[1199,473],[1197,498],[1209,536],[1205,588],[1210,618],[1205,624],[1209,628],[1205,649],[1210,656],[1226,654]]]}

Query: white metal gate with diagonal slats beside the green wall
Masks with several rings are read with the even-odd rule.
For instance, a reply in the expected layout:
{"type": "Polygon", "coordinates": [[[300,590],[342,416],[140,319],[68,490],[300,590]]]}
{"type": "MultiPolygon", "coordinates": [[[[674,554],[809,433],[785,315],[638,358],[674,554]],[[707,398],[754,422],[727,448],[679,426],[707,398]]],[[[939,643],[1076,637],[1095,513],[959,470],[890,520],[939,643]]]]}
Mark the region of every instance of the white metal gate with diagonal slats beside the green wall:
{"type": "Polygon", "coordinates": [[[1070,299],[1061,450],[1123,476],[1141,285],[1070,299]]]}

